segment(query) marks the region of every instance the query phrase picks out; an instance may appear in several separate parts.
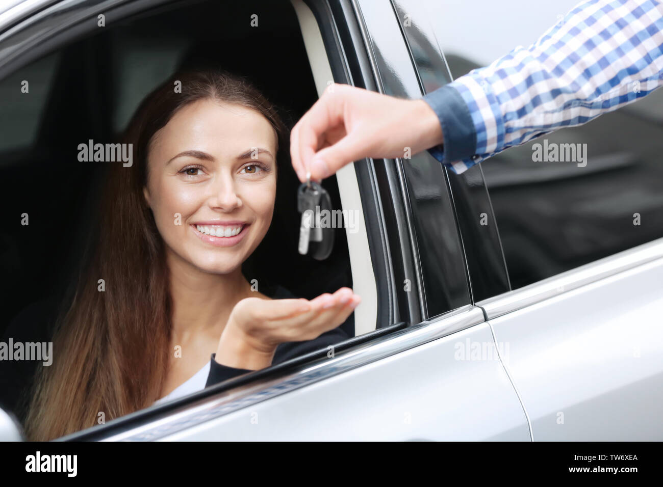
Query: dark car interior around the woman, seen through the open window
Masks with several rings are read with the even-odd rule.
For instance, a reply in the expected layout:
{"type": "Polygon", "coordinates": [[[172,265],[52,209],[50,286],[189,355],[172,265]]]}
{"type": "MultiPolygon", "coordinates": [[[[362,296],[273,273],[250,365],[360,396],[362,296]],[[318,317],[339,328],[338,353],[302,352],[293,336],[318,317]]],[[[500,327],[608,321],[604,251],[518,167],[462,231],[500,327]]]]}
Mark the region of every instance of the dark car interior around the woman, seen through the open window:
{"type": "MultiPolygon", "coordinates": [[[[0,230],[0,332],[30,303],[62,296],[78,269],[86,221],[94,217],[105,164],[113,164],[78,162],[78,144],[117,140],[154,87],[177,70],[206,67],[249,78],[292,127],[324,88],[314,80],[300,20],[288,1],[171,3],[56,46],[0,80],[0,199],[16,221],[0,230]],[[29,95],[18,88],[23,80],[29,95]]],[[[257,279],[261,292],[278,284],[309,299],[341,286],[356,290],[344,229],[334,229],[326,260],[298,254],[299,182],[289,148],[279,152],[274,220],[245,276],[257,279]]],[[[322,184],[332,207],[343,207],[337,178],[322,184]]],[[[343,327],[359,334],[351,320],[343,327]]],[[[375,327],[369,319],[363,331],[375,327]]]]}

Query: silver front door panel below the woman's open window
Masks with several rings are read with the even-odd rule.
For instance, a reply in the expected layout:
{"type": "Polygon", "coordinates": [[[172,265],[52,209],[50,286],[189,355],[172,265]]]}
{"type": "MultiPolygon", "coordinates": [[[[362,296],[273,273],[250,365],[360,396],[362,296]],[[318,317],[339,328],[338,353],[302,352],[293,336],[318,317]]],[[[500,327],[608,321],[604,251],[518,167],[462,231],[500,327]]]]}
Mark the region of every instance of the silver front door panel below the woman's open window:
{"type": "Polygon", "coordinates": [[[529,441],[526,417],[501,362],[461,357],[467,343],[492,344],[487,323],[162,439],[529,441]]]}

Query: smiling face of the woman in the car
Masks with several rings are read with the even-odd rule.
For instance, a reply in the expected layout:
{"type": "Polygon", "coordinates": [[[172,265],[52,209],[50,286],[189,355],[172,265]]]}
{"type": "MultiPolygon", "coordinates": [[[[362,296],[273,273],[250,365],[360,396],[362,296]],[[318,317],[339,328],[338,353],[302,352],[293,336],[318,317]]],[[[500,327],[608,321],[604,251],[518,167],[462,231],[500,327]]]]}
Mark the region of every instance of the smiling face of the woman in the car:
{"type": "Polygon", "coordinates": [[[148,152],[145,198],[170,252],[204,272],[241,266],[274,212],[271,123],[240,105],[200,100],[156,132],[148,152]]]}

